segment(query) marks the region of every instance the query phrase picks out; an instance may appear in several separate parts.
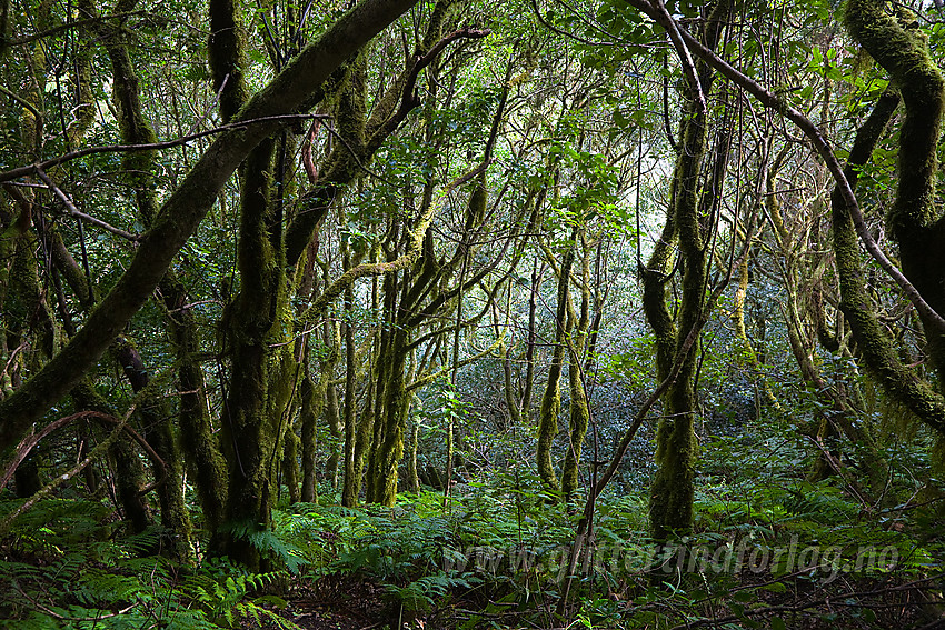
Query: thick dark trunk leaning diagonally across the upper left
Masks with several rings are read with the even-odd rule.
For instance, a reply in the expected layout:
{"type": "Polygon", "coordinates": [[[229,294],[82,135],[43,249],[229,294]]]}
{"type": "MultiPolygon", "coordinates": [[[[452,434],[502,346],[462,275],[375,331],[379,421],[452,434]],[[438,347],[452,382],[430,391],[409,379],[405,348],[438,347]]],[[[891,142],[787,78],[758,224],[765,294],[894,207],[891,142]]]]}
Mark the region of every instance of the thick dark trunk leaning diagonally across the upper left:
{"type": "MultiPolygon", "coordinates": [[[[307,111],[324,96],[329,76],[357,49],[396,20],[414,0],[366,0],[338,18],[305,47],[263,89],[246,101],[238,118],[307,111]]],[[[140,239],[127,270],[61,352],[0,401],[0,453],[8,453],[51,406],[66,396],[101,357],[111,340],[150,298],[173,257],[193,233],[249,152],[282,123],[257,122],[221,132],[165,201],[140,239]]]]}

